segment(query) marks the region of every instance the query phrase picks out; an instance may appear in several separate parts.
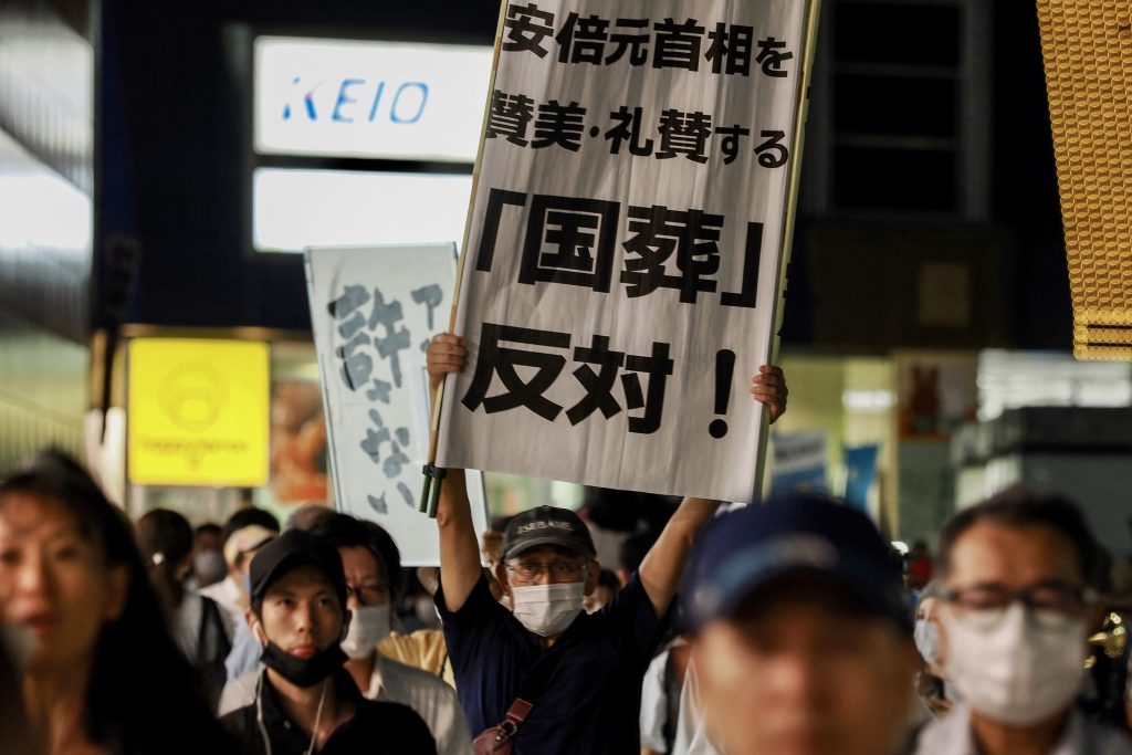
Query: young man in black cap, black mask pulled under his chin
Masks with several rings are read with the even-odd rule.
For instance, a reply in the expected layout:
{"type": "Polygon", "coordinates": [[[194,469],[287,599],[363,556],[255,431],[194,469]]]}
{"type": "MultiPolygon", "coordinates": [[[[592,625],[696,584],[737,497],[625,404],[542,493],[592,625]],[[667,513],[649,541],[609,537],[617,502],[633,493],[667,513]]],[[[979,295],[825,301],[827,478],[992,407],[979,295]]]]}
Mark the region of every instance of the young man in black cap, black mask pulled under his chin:
{"type": "Polygon", "coordinates": [[[264,645],[255,701],[221,720],[251,753],[436,753],[428,727],[404,705],[365,700],[342,668],[350,612],[337,550],[289,531],[251,561],[247,619],[264,645]]]}

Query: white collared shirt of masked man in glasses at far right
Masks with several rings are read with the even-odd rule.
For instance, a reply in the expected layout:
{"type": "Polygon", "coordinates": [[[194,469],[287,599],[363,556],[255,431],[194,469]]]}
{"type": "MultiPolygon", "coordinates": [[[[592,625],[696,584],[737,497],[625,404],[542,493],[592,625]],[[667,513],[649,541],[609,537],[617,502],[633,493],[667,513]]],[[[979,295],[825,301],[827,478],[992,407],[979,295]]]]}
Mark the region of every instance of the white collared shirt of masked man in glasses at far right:
{"type": "MultiPolygon", "coordinates": [[[[915,755],[979,755],[970,709],[957,704],[945,718],[927,724],[915,755]]],[[[1048,755],[1132,755],[1132,740],[1116,729],[1090,721],[1074,707],[1048,755]]]]}

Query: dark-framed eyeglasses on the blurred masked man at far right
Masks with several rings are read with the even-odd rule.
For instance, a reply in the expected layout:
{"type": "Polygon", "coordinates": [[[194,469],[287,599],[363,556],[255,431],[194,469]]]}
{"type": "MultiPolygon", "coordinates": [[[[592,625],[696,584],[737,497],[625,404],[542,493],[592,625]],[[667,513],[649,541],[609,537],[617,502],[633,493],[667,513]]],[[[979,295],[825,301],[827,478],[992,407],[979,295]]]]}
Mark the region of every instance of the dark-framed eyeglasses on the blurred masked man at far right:
{"type": "Polygon", "coordinates": [[[952,607],[959,620],[989,628],[1002,621],[1014,602],[1028,608],[1028,617],[1038,624],[1064,624],[1084,614],[1091,595],[1081,587],[1044,582],[1026,590],[1007,590],[997,584],[976,585],[943,592],[940,598],[952,607]]]}

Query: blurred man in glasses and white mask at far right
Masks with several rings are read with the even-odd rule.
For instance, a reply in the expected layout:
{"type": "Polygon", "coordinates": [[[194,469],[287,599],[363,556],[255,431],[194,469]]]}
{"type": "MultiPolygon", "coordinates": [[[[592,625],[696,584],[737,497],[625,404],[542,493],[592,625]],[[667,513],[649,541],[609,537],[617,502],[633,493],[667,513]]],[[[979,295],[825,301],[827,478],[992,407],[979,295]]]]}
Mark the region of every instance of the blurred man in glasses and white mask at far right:
{"type": "Polygon", "coordinates": [[[1074,706],[1097,619],[1099,546],[1069,500],[1012,488],[940,538],[937,617],[960,703],[918,755],[1116,755],[1132,741],[1074,706]]]}

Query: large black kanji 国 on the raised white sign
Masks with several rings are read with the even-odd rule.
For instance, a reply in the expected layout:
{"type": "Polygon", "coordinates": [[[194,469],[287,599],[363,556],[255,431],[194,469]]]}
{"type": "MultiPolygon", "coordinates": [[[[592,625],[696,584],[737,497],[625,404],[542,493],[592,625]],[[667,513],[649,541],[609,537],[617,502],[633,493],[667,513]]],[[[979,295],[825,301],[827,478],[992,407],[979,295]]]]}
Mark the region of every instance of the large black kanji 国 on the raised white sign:
{"type": "Polygon", "coordinates": [[[518,282],[563,283],[608,293],[620,212],[616,201],[534,195],[518,282]]]}

